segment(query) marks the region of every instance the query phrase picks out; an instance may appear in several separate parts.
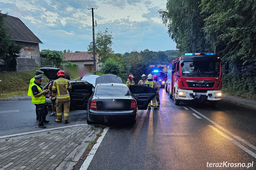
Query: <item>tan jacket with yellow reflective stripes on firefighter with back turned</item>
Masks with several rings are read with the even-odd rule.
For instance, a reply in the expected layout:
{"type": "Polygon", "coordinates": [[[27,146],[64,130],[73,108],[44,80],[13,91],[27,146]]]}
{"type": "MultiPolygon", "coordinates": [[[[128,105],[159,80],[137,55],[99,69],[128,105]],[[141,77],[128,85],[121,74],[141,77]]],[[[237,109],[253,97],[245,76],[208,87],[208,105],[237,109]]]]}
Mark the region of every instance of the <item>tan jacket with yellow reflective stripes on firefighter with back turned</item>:
{"type": "Polygon", "coordinates": [[[52,95],[57,95],[58,101],[70,101],[69,90],[71,89],[71,84],[69,80],[63,77],[58,78],[53,82],[52,95]]]}

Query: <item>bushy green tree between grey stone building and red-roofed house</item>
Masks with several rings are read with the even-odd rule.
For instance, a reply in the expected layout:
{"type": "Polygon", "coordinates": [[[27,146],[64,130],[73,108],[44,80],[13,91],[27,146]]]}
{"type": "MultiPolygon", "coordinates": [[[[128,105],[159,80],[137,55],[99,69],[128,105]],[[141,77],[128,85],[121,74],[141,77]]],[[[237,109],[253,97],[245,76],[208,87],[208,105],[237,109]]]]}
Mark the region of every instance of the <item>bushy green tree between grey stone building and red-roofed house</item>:
{"type": "Polygon", "coordinates": [[[53,61],[54,67],[63,69],[64,54],[63,51],[56,50],[41,50],[41,59],[51,59],[53,61]]]}

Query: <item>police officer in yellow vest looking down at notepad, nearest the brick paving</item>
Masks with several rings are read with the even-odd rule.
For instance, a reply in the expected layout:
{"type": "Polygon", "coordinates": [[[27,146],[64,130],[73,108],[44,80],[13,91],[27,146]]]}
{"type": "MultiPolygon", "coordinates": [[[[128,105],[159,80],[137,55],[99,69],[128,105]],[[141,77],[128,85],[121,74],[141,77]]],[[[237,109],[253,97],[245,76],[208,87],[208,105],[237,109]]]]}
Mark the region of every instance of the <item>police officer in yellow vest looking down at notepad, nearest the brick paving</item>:
{"type": "Polygon", "coordinates": [[[49,123],[50,121],[45,120],[46,115],[48,114],[47,106],[45,103],[45,93],[48,93],[48,90],[44,90],[41,86],[42,84],[42,75],[35,76],[35,81],[31,85],[31,96],[32,103],[36,105],[36,111],[39,116],[39,124],[38,127],[45,128],[44,123],[49,123]]]}

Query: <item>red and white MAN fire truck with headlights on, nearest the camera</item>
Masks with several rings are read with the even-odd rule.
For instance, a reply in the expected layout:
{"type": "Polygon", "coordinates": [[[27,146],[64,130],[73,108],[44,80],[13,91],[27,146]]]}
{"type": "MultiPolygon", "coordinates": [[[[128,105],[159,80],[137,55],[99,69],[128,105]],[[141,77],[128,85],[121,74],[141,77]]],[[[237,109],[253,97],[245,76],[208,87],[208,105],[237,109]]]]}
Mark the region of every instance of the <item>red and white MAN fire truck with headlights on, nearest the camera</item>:
{"type": "MultiPolygon", "coordinates": [[[[167,91],[174,104],[205,101],[216,106],[222,98],[221,59],[214,53],[186,53],[168,66],[167,91]]],[[[225,63],[228,73],[228,62],[225,63]]]]}

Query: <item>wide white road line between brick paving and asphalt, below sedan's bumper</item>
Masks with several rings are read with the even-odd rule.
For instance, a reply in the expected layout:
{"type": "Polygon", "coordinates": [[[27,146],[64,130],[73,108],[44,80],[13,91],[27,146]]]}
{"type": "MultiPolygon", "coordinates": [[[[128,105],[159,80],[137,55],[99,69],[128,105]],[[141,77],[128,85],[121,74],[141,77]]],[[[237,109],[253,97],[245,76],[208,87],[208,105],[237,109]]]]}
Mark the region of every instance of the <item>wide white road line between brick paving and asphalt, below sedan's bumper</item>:
{"type": "Polygon", "coordinates": [[[87,170],[88,166],[90,165],[93,156],[95,155],[99,145],[101,144],[101,141],[103,140],[104,136],[106,135],[106,132],[108,131],[109,127],[105,127],[105,129],[102,132],[102,136],[98,138],[97,143],[93,145],[92,150],[90,151],[89,155],[85,159],[84,163],[82,164],[81,168],[79,170],[87,170]]]}

